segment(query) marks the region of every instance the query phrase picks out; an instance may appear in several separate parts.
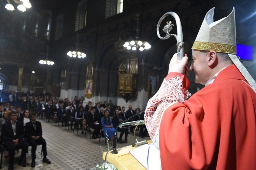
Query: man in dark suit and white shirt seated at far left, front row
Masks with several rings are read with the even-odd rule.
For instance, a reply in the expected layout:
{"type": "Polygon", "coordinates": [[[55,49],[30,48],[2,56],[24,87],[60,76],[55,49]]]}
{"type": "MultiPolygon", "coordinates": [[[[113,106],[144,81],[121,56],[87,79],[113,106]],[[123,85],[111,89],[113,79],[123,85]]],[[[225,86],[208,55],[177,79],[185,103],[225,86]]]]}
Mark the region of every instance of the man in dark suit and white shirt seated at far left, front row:
{"type": "Polygon", "coordinates": [[[18,165],[26,167],[26,163],[23,162],[23,159],[26,156],[26,151],[28,150],[29,144],[23,140],[24,137],[24,128],[23,122],[16,121],[17,113],[12,111],[10,113],[11,121],[8,121],[2,125],[2,134],[1,139],[4,143],[4,146],[9,150],[9,167],[8,169],[13,169],[14,163],[14,151],[15,146],[22,147],[22,153],[19,157],[18,165]]]}

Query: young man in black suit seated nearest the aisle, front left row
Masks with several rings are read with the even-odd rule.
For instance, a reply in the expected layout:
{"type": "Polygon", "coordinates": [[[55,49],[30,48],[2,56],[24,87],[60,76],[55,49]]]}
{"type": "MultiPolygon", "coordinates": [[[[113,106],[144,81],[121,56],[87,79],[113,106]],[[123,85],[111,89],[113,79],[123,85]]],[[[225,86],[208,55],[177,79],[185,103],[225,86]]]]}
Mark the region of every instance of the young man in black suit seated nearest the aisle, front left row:
{"type": "Polygon", "coordinates": [[[31,156],[32,156],[32,162],[31,167],[35,167],[35,151],[37,150],[37,144],[42,145],[42,150],[44,154],[43,162],[46,164],[51,164],[51,161],[49,161],[47,156],[47,150],[46,150],[46,142],[42,137],[42,125],[39,121],[37,121],[37,114],[31,113],[30,114],[31,121],[26,123],[25,126],[25,135],[27,137],[27,141],[32,146],[31,148],[31,156]]]}

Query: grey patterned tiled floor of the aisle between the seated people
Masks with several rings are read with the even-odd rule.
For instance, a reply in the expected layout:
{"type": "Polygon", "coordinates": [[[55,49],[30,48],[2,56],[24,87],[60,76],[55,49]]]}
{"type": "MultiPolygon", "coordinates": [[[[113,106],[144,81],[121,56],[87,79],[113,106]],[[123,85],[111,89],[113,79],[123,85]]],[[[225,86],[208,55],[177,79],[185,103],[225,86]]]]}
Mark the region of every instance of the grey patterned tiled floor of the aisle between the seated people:
{"type": "MultiPolygon", "coordinates": [[[[47,143],[47,156],[52,164],[42,163],[43,155],[41,155],[41,146],[37,148],[37,159],[35,168],[31,168],[31,147],[27,153],[27,167],[21,167],[17,165],[19,154],[15,153],[15,169],[35,169],[35,170],[89,170],[92,167],[96,167],[97,164],[103,163],[102,150],[108,151],[108,147],[105,145],[104,138],[90,139],[87,132],[86,137],[81,134],[81,130],[76,131],[62,128],[61,125],[55,125],[55,123],[48,123],[45,120],[40,120],[43,128],[43,138],[47,143]]],[[[137,132],[138,135],[138,132],[137,132]]],[[[118,132],[119,137],[119,132],[118,132]]],[[[149,140],[149,137],[141,139],[137,137],[139,141],[149,140]]],[[[124,140],[124,136],[123,136],[124,140]]],[[[128,143],[117,143],[117,148],[132,145],[136,142],[132,134],[128,135],[128,143]]],[[[111,147],[111,146],[110,146],[111,147]]],[[[3,158],[2,169],[8,169],[8,159],[3,158]]]]}

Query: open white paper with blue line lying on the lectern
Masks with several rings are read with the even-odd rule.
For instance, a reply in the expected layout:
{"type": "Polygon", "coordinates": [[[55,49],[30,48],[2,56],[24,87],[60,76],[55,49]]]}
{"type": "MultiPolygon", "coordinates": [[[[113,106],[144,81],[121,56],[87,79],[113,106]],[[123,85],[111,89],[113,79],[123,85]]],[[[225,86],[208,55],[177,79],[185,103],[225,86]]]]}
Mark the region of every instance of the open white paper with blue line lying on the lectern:
{"type": "Polygon", "coordinates": [[[133,149],[129,153],[146,169],[148,154],[148,170],[161,170],[160,153],[153,143],[142,145],[136,149],[133,149]],[[149,154],[148,147],[150,147],[149,154]]]}

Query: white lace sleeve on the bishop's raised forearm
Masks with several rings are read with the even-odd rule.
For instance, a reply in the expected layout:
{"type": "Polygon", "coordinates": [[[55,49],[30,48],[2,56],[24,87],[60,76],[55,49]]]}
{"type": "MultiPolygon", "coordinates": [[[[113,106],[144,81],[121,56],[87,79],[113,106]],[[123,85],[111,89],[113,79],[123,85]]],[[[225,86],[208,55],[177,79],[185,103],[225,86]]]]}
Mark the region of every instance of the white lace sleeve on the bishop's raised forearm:
{"type": "Polygon", "coordinates": [[[145,110],[145,125],[152,142],[156,140],[156,131],[159,127],[163,112],[173,102],[185,102],[191,94],[183,87],[179,75],[169,80],[163,80],[157,93],[148,101],[145,110]]]}

